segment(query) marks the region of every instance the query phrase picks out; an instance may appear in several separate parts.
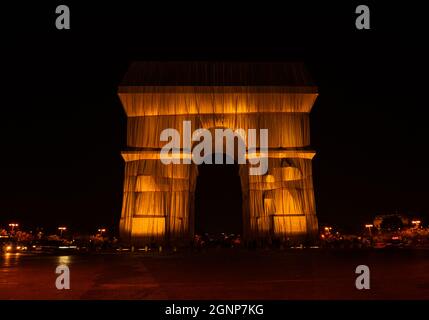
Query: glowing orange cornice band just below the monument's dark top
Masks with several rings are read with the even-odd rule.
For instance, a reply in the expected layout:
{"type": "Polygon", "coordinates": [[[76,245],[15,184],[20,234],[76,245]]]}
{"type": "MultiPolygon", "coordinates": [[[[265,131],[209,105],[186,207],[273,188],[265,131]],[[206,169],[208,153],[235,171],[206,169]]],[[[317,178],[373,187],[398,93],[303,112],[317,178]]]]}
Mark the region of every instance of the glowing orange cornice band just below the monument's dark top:
{"type": "Polygon", "coordinates": [[[294,89],[295,92],[291,92],[290,87],[121,86],[119,98],[128,117],[254,112],[308,113],[317,93],[314,89],[296,92],[304,89],[294,89]],[[300,103],[297,103],[298,99],[300,103]],[[171,108],[172,105],[178,107],[171,108]]]}

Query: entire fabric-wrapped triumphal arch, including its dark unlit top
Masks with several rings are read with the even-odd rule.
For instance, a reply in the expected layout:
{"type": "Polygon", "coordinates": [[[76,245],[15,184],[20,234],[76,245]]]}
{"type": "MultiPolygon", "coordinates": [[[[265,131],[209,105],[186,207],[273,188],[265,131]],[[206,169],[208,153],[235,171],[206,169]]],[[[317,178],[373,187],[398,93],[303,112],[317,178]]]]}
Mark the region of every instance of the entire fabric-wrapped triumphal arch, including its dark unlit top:
{"type": "Polygon", "coordinates": [[[268,173],[252,176],[240,165],[245,239],[316,236],[309,113],[317,88],[302,64],[135,62],[118,94],[127,114],[124,241],[192,237],[198,166],[159,159],[161,131],[181,133],[185,120],[192,131],[268,129],[268,173]]]}

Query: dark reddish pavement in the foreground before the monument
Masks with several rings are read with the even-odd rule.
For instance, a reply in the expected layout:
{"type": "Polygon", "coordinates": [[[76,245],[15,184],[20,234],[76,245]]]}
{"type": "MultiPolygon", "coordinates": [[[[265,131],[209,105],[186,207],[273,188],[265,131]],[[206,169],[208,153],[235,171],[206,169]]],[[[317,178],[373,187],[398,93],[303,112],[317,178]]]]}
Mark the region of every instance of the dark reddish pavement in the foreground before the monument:
{"type": "Polygon", "coordinates": [[[429,299],[429,250],[2,254],[0,299],[429,299]],[[58,265],[70,290],[55,287],[58,265]],[[355,269],[370,268],[357,290],[355,269]]]}

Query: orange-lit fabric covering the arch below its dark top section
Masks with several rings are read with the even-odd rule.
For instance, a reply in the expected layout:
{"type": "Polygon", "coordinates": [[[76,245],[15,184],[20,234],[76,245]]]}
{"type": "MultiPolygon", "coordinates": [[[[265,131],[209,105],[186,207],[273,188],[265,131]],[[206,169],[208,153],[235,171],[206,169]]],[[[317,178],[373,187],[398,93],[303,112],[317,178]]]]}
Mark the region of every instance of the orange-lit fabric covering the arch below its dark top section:
{"type": "MultiPolygon", "coordinates": [[[[310,145],[309,111],[317,94],[305,87],[124,86],[119,96],[128,116],[127,144],[138,153],[159,151],[165,144],[160,141],[164,129],[176,129],[183,137],[183,121],[191,121],[192,131],[268,129],[269,150],[304,150],[310,145]]],[[[250,176],[248,165],[240,165],[244,236],[314,236],[311,159],[298,152],[277,158],[269,151],[268,157],[263,176],[250,176]]],[[[164,165],[144,155],[124,159],[122,237],[142,243],[189,238],[198,167],[164,165]]]]}

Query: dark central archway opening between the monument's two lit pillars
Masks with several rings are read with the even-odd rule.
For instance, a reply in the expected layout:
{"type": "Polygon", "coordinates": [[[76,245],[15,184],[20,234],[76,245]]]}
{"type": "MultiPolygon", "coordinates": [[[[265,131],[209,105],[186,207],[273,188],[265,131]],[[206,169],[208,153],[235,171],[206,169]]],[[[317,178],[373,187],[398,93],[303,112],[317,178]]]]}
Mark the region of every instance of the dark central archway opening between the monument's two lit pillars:
{"type": "Polygon", "coordinates": [[[239,165],[201,164],[195,190],[195,233],[242,235],[242,191],[239,165]]]}

